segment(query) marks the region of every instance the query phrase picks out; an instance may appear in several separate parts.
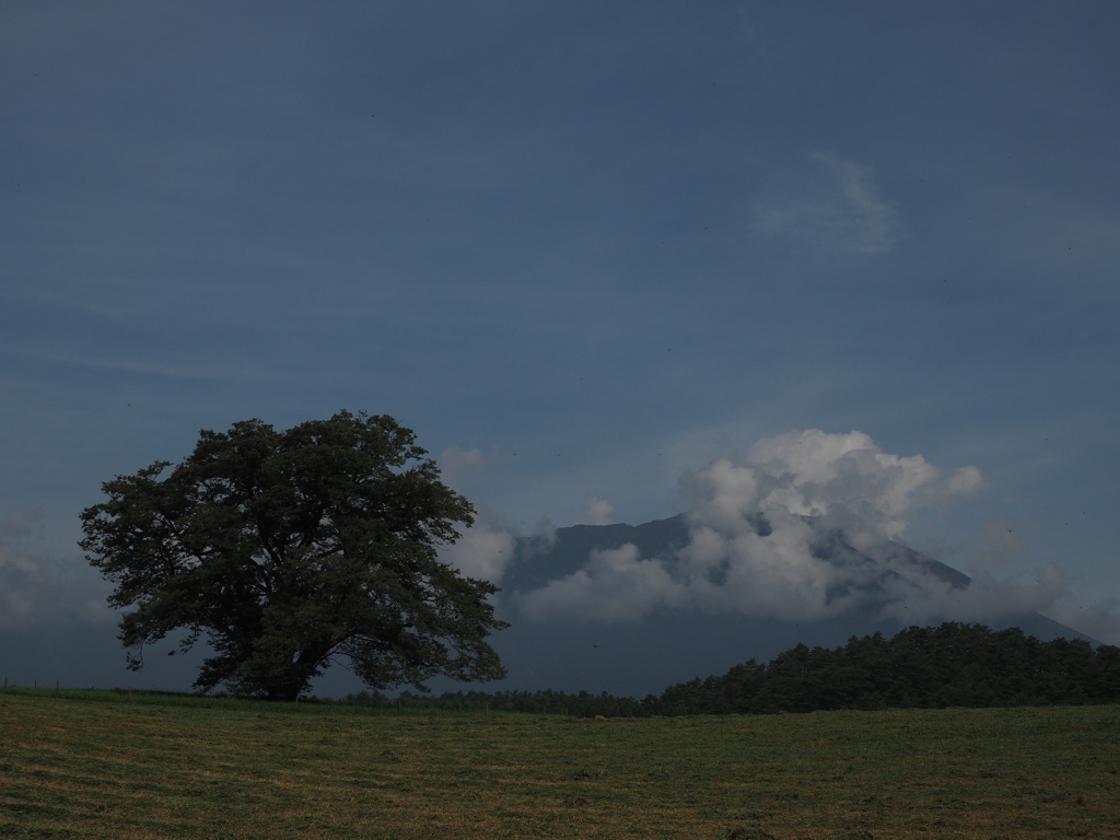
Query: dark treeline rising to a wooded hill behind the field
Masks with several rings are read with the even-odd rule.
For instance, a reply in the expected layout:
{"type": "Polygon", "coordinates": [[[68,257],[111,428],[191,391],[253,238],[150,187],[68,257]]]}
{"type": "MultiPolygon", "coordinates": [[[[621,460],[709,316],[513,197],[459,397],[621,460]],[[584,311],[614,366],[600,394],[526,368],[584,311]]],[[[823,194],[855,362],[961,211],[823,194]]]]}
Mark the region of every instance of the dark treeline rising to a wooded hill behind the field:
{"type": "Polygon", "coordinates": [[[1018,628],[951,622],[909,627],[893,638],[852,636],[836,648],[799,644],[767,664],[752,659],[721,676],[676,683],[643,700],[587,691],[405,692],[400,699],[362,691],[342,702],[576,717],[1117,703],[1120,647],[1040,642],[1018,628]]]}

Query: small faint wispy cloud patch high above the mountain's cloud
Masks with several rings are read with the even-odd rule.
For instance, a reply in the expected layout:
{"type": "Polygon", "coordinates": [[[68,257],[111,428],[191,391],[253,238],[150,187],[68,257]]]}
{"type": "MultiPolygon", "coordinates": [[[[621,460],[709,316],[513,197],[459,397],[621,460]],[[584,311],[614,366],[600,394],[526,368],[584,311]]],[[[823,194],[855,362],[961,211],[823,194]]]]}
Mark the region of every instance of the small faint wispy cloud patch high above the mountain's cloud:
{"type": "Polygon", "coordinates": [[[808,185],[754,205],[756,235],[857,254],[885,253],[904,237],[898,212],[869,167],[829,152],[811,159],[818,170],[808,185]]]}

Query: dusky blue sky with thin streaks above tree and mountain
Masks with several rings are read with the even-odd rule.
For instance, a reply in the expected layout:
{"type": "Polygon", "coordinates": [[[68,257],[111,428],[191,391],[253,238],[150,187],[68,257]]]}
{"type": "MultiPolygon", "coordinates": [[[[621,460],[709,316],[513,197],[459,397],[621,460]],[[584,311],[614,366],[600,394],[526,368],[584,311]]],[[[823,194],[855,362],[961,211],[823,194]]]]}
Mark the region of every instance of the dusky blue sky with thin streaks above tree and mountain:
{"type": "Polygon", "coordinates": [[[1112,2],[4,4],[0,634],[112,635],[74,544],[101,482],[349,409],[515,533],[858,430],[982,476],[907,542],[1054,564],[1120,642],[1117,31],[1112,2]]]}

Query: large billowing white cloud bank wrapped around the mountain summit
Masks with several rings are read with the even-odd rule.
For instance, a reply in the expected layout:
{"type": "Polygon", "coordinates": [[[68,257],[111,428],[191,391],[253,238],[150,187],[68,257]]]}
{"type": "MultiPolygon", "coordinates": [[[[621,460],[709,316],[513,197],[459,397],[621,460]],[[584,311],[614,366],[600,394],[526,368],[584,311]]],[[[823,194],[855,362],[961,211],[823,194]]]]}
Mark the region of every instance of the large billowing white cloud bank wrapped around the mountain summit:
{"type": "MultiPolygon", "coordinates": [[[[762,440],[681,485],[691,502],[687,544],[647,558],[633,544],[592,552],[575,573],[521,594],[523,615],[625,622],[693,609],[820,620],[870,608],[906,623],[1032,610],[1072,617],[1056,567],[1009,579],[974,571],[962,587],[895,542],[914,512],[976,493],[976,467],[946,473],[922,456],[885,452],[864,432],[813,429],[762,440]]],[[[1109,625],[1109,610],[1092,612],[1095,626],[1109,625]]]]}

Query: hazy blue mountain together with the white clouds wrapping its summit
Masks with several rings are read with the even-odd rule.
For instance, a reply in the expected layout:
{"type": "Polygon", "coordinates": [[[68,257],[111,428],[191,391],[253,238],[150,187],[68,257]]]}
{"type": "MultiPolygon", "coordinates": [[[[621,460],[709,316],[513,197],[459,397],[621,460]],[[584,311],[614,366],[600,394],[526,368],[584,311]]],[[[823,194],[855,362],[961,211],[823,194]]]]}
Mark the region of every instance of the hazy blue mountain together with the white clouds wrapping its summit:
{"type": "MultiPolygon", "coordinates": [[[[679,516],[532,538],[482,524],[448,559],[503,588],[510,688],[654,692],[799,642],[944,620],[1080,635],[1040,614],[1065,596],[1056,567],[970,578],[906,547],[915,512],[980,484],[864,432],[792,431],[684,474],[679,516]]],[[[596,502],[592,521],[609,514],[596,502]]]]}

